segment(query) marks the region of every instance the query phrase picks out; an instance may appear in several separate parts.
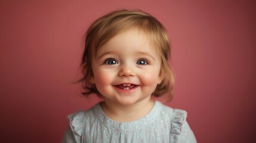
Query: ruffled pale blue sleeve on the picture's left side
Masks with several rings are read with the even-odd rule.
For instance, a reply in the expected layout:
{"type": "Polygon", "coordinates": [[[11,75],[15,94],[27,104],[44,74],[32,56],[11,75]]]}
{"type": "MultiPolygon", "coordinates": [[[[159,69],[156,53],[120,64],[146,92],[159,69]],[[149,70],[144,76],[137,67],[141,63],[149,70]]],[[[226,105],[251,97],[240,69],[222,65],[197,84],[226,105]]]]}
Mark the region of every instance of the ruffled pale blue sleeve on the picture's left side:
{"type": "Polygon", "coordinates": [[[66,130],[62,142],[82,142],[84,116],[84,111],[77,111],[67,117],[69,119],[69,127],[66,130]]]}

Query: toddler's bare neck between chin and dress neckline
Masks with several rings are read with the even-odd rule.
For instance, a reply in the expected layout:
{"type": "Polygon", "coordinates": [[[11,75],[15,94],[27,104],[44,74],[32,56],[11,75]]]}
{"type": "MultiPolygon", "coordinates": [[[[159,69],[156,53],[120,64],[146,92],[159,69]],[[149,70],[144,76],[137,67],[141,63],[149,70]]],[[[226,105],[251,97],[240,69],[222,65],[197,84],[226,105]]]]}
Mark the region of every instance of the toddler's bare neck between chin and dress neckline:
{"type": "Polygon", "coordinates": [[[110,119],[117,122],[131,122],[146,116],[152,110],[154,104],[155,102],[150,99],[131,105],[121,105],[106,99],[101,103],[101,107],[110,119]]]}

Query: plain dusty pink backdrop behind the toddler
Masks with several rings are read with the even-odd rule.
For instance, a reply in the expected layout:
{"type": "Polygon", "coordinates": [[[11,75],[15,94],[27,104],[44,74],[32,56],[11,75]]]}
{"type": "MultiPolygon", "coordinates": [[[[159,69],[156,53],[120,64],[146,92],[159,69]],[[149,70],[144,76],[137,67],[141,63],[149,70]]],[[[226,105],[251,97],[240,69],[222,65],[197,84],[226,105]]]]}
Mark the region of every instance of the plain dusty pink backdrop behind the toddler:
{"type": "Polygon", "coordinates": [[[154,15],[169,32],[177,76],[167,103],[189,113],[198,142],[255,141],[254,1],[0,1],[1,142],[60,142],[80,96],[83,35],[120,8],[154,15]]]}

